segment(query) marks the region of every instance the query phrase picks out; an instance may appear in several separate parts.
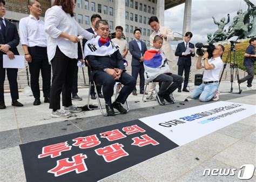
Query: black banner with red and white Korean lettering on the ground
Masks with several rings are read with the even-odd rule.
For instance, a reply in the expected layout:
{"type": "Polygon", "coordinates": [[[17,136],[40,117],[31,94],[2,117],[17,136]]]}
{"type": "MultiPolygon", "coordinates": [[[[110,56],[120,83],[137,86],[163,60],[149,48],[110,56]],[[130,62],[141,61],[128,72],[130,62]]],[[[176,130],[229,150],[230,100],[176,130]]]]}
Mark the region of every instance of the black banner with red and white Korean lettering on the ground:
{"type": "Polygon", "coordinates": [[[19,145],[26,180],[97,181],[178,145],[133,120],[19,145]]]}

